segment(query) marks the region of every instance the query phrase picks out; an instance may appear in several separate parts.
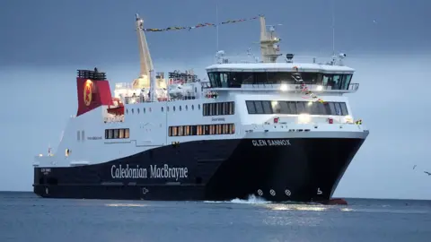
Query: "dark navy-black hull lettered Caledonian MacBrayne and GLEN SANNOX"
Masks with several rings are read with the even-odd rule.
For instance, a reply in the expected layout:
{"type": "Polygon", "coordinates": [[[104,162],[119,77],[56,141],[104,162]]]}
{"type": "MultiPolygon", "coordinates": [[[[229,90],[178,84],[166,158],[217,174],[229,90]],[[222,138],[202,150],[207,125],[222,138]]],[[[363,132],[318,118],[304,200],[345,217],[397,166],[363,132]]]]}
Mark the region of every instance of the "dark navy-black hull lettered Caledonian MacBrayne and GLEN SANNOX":
{"type": "Polygon", "coordinates": [[[180,143],[97,165],[35,168],[34,193],[52,198],[163,201],[228,201],[255,194],[275,202],[327,201],[364,141],[295,138],[180,143]],[[164,168],[165,164],[171,169],[154,173],[154,165],[164,168]]]}

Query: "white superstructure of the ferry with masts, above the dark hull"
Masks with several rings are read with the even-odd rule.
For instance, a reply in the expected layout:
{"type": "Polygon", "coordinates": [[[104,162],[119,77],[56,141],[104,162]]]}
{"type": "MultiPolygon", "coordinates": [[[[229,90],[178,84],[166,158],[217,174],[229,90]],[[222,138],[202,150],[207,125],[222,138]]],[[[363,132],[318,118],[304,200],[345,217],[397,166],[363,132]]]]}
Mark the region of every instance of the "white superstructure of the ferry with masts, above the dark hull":
{"type": "MultiPolygon", "coordinates": [[[[71,117],[56,151],[40,154],[35,167],[98,164],[164,145],[197,140],[365,137],[348,99],[354,73],[330,63],[295,63],[281,56],[274,28],[260,17],[262,62],[230,63],[223,51],[207,67],[208,82],[192,71],[155,73],[136,15],[140,73],[116,83],[111,105],[71,117]],[[326,103],[326,104],[324,104],[326,103]],[[124,109],[123,109],[124,107],[124,109]]],[[[78,88],[78,95],[81,95],[78,88]]]]}

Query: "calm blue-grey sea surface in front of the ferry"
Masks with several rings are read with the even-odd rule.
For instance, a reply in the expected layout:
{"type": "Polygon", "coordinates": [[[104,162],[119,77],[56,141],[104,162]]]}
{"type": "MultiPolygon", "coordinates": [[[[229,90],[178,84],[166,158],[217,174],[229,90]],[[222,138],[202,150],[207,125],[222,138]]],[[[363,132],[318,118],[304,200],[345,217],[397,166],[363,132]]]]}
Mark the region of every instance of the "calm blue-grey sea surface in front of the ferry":
{"type": "Polygon", "coordinates": [[[431,241],[431,201],[347,202],[58,200],[0,193],[0,242],[431,241]]]}

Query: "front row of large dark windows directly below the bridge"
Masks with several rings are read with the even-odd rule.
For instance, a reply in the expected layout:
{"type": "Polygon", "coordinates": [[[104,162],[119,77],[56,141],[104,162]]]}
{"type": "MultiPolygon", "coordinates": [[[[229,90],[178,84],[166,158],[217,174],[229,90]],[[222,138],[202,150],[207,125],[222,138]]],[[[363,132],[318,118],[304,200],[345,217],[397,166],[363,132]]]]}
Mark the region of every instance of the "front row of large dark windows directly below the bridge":
{"type": "Polygon", "coordinates": [[[290,114],[347,116],[345,102],[247,100],[249,114],[290,114]]]}

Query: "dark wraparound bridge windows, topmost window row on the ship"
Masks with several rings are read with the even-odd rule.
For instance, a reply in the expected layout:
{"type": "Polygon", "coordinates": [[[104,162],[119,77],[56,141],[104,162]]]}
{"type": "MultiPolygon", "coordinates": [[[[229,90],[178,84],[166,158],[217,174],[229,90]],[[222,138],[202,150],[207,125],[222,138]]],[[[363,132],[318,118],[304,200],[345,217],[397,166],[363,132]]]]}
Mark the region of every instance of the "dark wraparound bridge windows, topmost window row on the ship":
{"type": "MultiPolygon", "coordinates": [[[[266,72],[266,73],[224,73],[210,72],[208,78],[211,87],[241,88],[242,84],[291,84],[298,83],[296,73],[266,72]]],[[[300,73],[300,80],[306,84],[330,86],[332,90],[347,90],[352,74],[333,73],[300,73]]]]}

